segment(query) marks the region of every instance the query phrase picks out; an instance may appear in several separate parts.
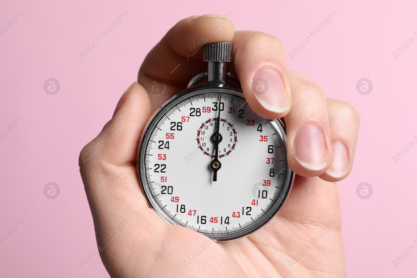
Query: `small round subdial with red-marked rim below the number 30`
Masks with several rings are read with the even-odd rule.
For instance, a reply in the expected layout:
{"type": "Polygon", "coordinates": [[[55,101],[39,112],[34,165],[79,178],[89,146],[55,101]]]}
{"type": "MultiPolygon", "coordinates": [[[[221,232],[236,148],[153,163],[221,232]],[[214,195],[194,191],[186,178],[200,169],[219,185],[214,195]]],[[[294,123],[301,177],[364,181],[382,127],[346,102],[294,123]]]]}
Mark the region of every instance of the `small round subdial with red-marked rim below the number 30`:
{"type": "MultiPolygon", "coordinates": [[[[197,143],[200,150],[212,158],[215,155],[215,132],[217,118],[202,123],[197,133],[197,143]]],[[[219,122],[219,158],[229,155],[236,145],[236,131],[229,121],[220,119],[219,122]]]]}

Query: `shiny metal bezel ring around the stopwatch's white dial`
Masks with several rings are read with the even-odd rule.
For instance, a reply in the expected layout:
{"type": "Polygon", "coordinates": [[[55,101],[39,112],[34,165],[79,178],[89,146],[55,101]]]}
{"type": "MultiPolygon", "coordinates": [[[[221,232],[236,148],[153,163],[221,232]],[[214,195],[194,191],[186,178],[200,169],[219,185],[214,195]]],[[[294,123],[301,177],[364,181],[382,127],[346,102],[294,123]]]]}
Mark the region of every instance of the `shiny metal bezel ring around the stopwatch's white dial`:
{"type": "MultiPolygon", "coordinates": [[[[141,161],[144,161],[144,155],[145,151],[144,148],[146,147],[146,143],[149,140],[149,136],[151,135],[153,129],[157,125],[158,121],[161,120],[162,116],[166,113],[166,111],[170,110],[173,106],[175,106],[177,103],[185,100],[186,98],[192,97],[194,95],[198,95],[200,93],[206,93],[206,92],[224,92],[224,93],[230,93],[234,94],[238,97],[241,97],[244,99],[243,93],[241,91],[241,88],[235,85],[226,84],[226,83],[220,83],[220,84],[202,84],[197,85],[194,87],[187,88],[185,90],[182,90],[177,95],[174,95],[173,97],[169,98],[165,103],[161,105],[161,107],[155,111],[154,115],[148,120],[148,123],[146,124],[144,128],[144,132],[142,133],[141,140],[139,141],[138,146],[138,152],[136,156],[136,170],[138,172],[138,178],[139,182],[141,183],[141,188],[143,190],[143,194],[146,197],[146,200],[148,201],[149,205],[153,210],[155,210],[161,218],[166,220],[168,223],[171,223],[173,225],[178,225],[178,223],[171,220],[171,218],[168,218],[165,213],[151,200],[151,192],[148,190],[148,184],[146,181],[146,178],[143,177],[145,175],[145,165],[144,163],[140,163],[141,161]]],[[[281,138],[284,143],[284,149],[285,154],[287,155],[287,149],[286,149],[286,130],[284,127],[284,124],[280,119],[273,120],[276,123],[276,128],[279,132],[279,135],[281,135],[281,138]]],[[[294,183],[294,172],[289,168],[288,161],[286,163],[286,177],[284,178],[284,184],[283,189],[279,195],[279,197],[276,199],[273,209],[269,210],[267,214],[265,214],[256,224],[253,224],[249,226],[249,228],[239,231],[238,233],[230,233],[225,235],[219,235],[219,236],[213,236],[209,234],[202,233],[203,235],[206,235],[208,238],[211,238],[212,240],[216,241],[226,241],[226,240],[234,240],[237,238],[241,238],[247,235],[250,235],[251,233],[254,233],[256,230],[261,228],[263,225],[269,222],[272,217],[278,212],[278,210],[281,208],[282,204],[286,200],[286,197],[288,196],[289,192],[291,191],[292,185],[294,183]]]]}

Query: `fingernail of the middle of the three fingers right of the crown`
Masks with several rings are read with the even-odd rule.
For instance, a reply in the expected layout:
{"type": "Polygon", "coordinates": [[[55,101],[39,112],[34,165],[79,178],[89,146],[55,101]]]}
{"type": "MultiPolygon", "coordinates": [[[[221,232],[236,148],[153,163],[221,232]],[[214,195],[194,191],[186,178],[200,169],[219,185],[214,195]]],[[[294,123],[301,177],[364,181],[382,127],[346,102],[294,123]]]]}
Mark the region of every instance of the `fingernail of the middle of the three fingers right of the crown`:
{"type": "Polygon", "coordinates": [[[322,170],[327,165],[327,152],[322,131],[315,125],[300,128],[294,139],[294,156],[309,170],[322,170]]]}

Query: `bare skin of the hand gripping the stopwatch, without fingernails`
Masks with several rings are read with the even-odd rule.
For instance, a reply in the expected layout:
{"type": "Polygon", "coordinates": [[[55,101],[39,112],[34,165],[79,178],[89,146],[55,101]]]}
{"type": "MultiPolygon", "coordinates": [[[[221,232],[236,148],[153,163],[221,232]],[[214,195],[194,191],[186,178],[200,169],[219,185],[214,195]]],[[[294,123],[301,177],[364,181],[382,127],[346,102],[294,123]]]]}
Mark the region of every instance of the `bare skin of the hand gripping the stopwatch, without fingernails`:
{"type": "Polygon", "coordinates": [[[138,83],[122,95],[113,118],[80,153],[80,173],[103,264],[111,277],[345,277],[339,195],[334,182],[346,178],[352,169],[360,118],[352,105],[326,98],[309,78],[288,70],[285,50],[274,36],[234,32],[234,25],[227,20],[206,43],[231,41],[229,70],[238,75],[250,107],[265,118],[284,117],[288,161],[296,177],[279,212],[255,233],[217,243],[191,229],[166,223],[143,195],[135,161],[143,128],[163,101],[206,70],[202,48],[191,57],[186,53],[219,20],[222,18],[214,15],[191,17],[171,28],[144,60],[138,83]],[[283,113],[266,110],[250,89],[255,72],[264,67],[276,69],[283,80],[291,103],[283,113]],[[166,86],[159,96],[147,92],[155,80],[163,80],[166,86]],[[338,120],[323,134],[327,167],[303,168],[291,155],[297,130],[311,123],[323,126],[331,115],[338,120]],[[112,128],[116,132],[104,142],[112,128]],[[333,161],[332,140],[347,147],[349,166],[340,178],[325,173],[333,161]],[[128,224],[121,229],[123,220],[128,224]],[[113,236],[116,228],[119,234],[113,236]],[[317,244],[311,242],[316,236],[317,244]],[[108,237],[111,241],[106,245],[108,237]],[[306,249],[307,245],[310,248],[306,249]]]}

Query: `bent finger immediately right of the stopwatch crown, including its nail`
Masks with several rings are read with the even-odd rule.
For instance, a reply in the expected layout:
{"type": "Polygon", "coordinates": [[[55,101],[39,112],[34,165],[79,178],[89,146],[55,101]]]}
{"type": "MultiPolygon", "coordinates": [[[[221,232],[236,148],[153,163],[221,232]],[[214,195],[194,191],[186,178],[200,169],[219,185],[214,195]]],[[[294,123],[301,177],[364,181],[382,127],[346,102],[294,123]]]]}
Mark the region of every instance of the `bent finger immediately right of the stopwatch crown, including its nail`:
{"type": "Polygon", "coordinates": [[[267,119],[284,117],[291,108],[286,53],[281,41],[256,31],[236,31],[234,69],[249,106],[267,119]]]}

